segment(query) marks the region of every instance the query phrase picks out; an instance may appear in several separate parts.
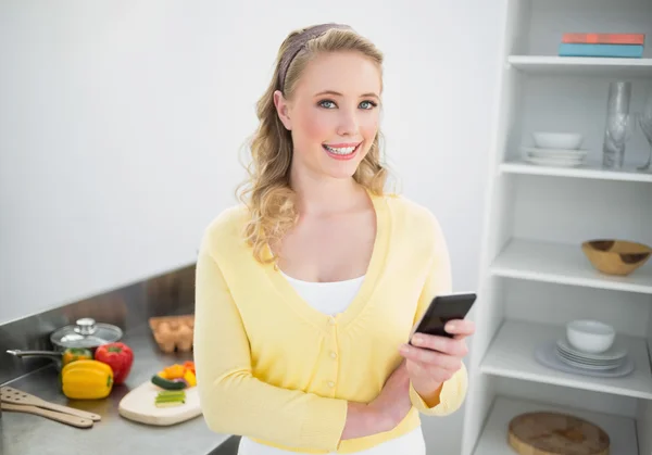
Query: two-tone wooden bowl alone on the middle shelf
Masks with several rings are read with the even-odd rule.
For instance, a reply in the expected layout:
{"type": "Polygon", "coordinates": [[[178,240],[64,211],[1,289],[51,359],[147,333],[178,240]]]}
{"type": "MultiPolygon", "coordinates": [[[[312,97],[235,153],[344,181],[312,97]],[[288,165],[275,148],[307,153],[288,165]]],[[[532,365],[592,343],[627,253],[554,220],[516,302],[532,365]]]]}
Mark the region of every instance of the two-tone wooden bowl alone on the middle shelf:
{"type": "Polygon", "coordinates": [[[626,240],[597,239],[581,244],[593,267],[607,275],[629,275],[650,258],[652,249],[626,240]]]}

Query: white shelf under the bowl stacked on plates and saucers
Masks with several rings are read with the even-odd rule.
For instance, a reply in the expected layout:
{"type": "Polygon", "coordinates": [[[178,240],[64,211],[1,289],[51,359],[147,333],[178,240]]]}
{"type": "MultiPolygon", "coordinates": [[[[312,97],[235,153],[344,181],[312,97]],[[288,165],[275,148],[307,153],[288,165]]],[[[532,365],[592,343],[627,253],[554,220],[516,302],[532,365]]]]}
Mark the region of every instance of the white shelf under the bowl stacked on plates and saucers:
{"type": "Polygon", "coordinates": [[[635,370],[620,378],[595,378],[548,368],[537,362],[535,350],[565,337],[563,326],[506,320],[491,342],[480,370],[488,375],[652,400],[652,374],[645,339],[618,333],[635,370]]]}

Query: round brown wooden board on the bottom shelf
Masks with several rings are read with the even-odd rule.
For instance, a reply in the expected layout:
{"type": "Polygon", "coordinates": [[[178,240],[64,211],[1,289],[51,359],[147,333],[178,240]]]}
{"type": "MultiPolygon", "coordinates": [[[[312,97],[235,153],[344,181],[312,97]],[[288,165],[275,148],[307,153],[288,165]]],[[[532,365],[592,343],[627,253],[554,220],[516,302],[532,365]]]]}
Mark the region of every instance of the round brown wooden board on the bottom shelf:
{"type": "Polygon", "coordinates": [[[521,455],[609,455],[610,438],[600,427],[567,414],[527,413],[509,427],[510,445],[521,455]]]}

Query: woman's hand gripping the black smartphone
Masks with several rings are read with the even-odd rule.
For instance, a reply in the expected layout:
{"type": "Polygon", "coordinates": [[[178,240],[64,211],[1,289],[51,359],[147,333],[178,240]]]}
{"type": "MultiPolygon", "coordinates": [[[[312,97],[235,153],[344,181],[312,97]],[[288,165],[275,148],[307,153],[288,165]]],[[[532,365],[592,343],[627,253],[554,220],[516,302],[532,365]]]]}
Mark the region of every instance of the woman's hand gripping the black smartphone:
{"type": "Polygon", "coordinates": [[[400,349],[412,387],[430,406],[439,402],[443,382],[462,367],[462,358],[468,353],[465,338],[475,333],[475,323],[454,319],[444,329],[453,338],[415,333],[412,345],[403,344],[400,349]]]}

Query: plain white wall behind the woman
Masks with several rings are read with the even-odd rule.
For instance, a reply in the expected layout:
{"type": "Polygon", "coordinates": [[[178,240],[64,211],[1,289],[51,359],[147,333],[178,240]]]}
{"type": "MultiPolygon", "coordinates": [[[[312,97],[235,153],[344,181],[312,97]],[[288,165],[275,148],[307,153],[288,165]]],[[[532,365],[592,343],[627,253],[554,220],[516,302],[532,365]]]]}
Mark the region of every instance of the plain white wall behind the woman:
{"type": "MultiPolygon", "coordinates": [[[[0,324],[193,262],[235,202],[280,41],[330,21],[386,53],[391,164],[439,217],[455,288],[474,289],[500,8],[3,1],[0,324]]],[[[428,420],[429,453],[459,453],[462,414],[428,420]]]]}

